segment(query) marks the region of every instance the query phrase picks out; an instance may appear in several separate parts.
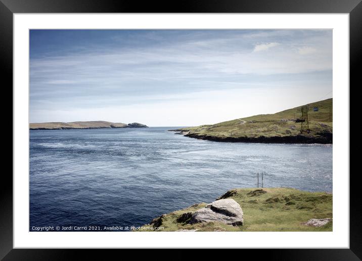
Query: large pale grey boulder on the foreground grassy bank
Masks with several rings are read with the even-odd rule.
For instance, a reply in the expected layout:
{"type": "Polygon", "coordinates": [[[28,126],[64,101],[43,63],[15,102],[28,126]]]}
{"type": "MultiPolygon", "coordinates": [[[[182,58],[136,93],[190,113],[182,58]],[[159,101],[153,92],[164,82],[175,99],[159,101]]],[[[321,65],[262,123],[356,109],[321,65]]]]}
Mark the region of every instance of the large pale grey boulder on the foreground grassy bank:
{"type": "Polygon", "coordinates": [[[222,222],[228,225],[241,226],[244,222],[244,214],[234,199],[219,199],[197,210],[189,223],[201,222],[222,222]]]}

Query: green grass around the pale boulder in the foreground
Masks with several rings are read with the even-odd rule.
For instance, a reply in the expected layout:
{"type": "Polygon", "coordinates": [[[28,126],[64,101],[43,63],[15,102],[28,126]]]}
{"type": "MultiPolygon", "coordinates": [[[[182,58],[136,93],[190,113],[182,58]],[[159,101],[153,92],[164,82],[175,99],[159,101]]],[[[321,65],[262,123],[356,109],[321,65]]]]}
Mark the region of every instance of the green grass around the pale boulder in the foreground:
{"type": "MultiPolygon", "coordinates": [[[[263,188],[261,195],[248,194],[256,188],[234,189],[235,199],[244,212],[243,226],[234,227],[222,223],[186,224],[177,223],[180,214],[194,212],[206,205],[200,203],[168,213],[161,227],[163,231],[197,229],[198,231],[332,231],[333,224],[310,227],[302,223],[310,219],[332,218],[332,194],[326,192],[306,192],[291,188],[263,188]]],[[[152,225],[145,225],[150,227],[152,225]]],[[[160,232],[160,231],[158,231],[160,232]]]]}

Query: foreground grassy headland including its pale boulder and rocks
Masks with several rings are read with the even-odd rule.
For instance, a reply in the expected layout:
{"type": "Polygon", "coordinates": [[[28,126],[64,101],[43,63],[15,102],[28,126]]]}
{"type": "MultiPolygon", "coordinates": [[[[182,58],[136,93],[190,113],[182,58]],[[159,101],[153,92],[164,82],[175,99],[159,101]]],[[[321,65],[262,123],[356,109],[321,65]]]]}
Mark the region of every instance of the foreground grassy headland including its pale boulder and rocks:
{"type": "Polygon", "coordinates": [[[162,214],[134,231],[332,231],[332,202],[331,192],[237,188],[212,203],[162,214]]]}

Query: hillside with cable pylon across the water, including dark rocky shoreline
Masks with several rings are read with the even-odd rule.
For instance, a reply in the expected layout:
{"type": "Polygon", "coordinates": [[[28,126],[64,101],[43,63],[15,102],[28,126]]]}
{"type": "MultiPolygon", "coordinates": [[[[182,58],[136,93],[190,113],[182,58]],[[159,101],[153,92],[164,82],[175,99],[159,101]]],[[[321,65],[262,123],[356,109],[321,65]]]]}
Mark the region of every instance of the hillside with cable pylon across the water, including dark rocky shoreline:
{"type": "Polygon", "coordinates": [[[310,141],[331,143],[333,133],[332,106],[333,100],[307,104],[309,106],[309,130],[301,133],[301,123],[295,119],[301,116],[301,106],[275,114],[260,114],[246,118],[224,121],[213,125],[201,125],[180,129],[186,136],[206,140],[223,141],[283,141],[293,142],[297,138],[301,142],[310,141]],[[318,111],[313,111],[318,107],[318,111]],[[330,118],[331,110],[331,118],[330,118]],[[326,138],[327,137],[327,138],[326,138]],[[262,138],[262,139],[261,139],[262,138]],[[234,140],[233,140],[234,139],[234,140]],[[323,142],[326,140],[326,142],[323,142]]]}

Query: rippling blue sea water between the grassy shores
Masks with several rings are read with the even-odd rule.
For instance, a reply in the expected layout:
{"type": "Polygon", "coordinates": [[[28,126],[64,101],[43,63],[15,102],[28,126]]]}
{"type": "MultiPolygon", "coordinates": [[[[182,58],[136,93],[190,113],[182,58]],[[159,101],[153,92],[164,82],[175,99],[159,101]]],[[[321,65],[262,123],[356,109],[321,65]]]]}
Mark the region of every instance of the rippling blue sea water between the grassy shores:
{"type": "Polygon", "coordinates": [[[176,127],[30,130],[32,226],[141,226],[232,188],[332,191],[332,145],[218,143],[176,127]]]}

